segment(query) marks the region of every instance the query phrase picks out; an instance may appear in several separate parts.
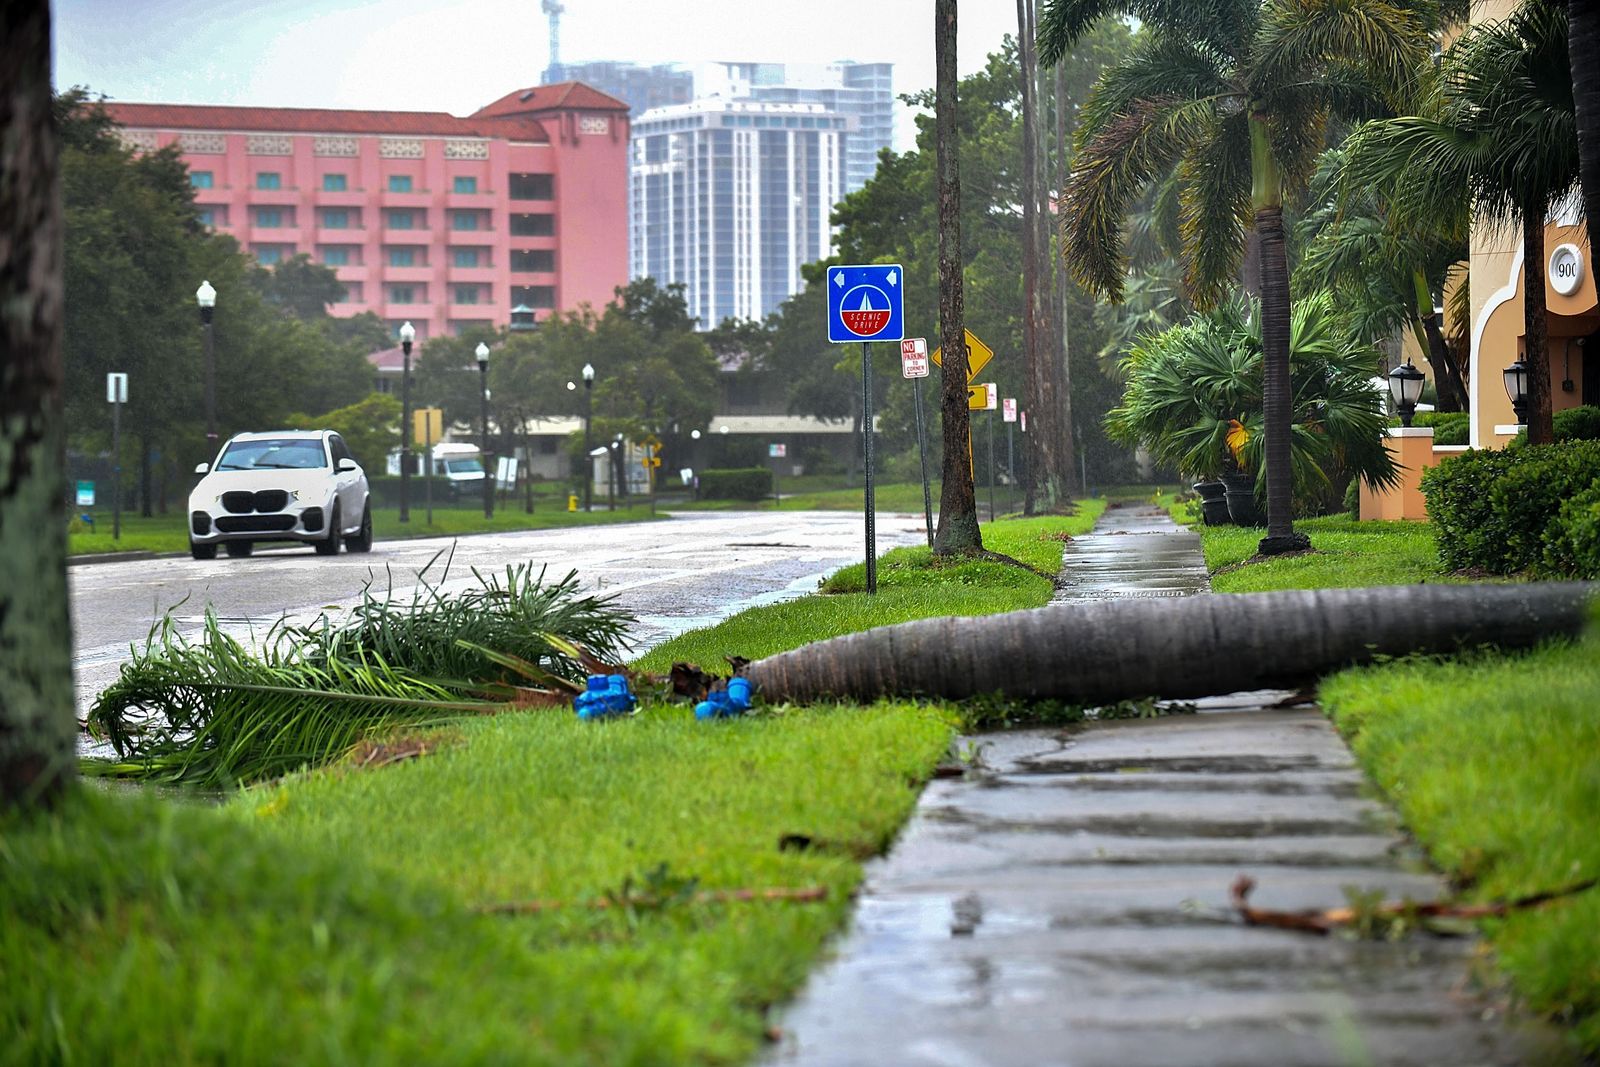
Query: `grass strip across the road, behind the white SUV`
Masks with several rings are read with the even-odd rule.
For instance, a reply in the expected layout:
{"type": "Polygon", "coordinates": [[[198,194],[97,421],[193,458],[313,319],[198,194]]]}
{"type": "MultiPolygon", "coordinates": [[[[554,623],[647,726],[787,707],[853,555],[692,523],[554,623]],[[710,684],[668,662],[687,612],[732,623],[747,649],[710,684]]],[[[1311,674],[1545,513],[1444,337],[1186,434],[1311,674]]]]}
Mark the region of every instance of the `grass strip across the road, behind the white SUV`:
{"type": "MultiPolygon", "coordinates": [[[[664,518],[658,509],[656,518],[664,518]]],[[[418,502],[411,506],[411,522],[400,522],[400,510],[395,507],[373,509],[373,534],[379,541],[395,541],[400,537],[435,537],[450,534],[470,534],[509,530],[547,530],[554,526],[589,526],[598,523],[645,522],[651,518],[648,504],[608,510],[605,506],[594,512],[568,512],[565,498],[538,498],[531,514],[523,510],[522,501],[507,507],[496,507],[494,518],[483,518],[482,504],[435,506],[434,522],[427,522],[427,509],[418,502]]],[[[70,555],[93,555],[98,552],[187,552],[189,528],[182,514],[152,515],[150,518],[122,517],[122,539],[112,541],[110,515],[96,515],[96,531],[74,530],[67,536],[67,552],[70,555]]]]}

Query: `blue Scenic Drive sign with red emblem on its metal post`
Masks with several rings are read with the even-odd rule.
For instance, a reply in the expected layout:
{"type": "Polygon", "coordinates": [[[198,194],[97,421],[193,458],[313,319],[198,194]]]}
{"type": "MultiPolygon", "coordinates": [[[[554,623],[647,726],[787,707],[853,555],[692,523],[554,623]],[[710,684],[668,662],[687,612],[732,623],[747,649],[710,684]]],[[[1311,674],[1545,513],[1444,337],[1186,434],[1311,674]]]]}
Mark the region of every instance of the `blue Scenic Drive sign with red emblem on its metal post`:
{"type": "Polygon", "coordinates": [[[872,494],[872,357],[870,341],[906,339],[906,272],[894,264],[829,267],[827,341],[861,342],[861,458],[866,472],[867,593],[878,592],[877,501],[872,494]]]}

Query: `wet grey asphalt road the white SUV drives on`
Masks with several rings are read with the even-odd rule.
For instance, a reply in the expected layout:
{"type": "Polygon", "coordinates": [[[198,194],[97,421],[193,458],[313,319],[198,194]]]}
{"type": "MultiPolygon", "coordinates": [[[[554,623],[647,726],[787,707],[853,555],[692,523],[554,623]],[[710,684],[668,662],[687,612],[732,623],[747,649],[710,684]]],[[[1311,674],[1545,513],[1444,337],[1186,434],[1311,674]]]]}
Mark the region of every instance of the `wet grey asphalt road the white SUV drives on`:
{"type": "MultiPolygon", "coordinates": [[[[878,552],[923,539],[920,515],[880,514],[878,552]]],[[[259,633],[274,621],[310,617],[354,605],[368,582],[406,601],[418,573],[451,537],[379,541],[371,553],[315,555],[310,549],[262,549],[250,558],[211,561],[155,558],[75,566],[74,667],[78,715],[117,677],[128,646],[171,611],[184,632],[206,606],[232,633],[259,633]]],[[[683,512],[669,522],[480,534],[454,541],[448,577],[442,561],[429,582],[459,589],[470,568],[502,569],[531,560],[560,577],[576,569],[584,590],[616,593],[640,621],[634,651],[709,625],[742,608],[798,597],[866,550],[856,512],[683,512]]]]}

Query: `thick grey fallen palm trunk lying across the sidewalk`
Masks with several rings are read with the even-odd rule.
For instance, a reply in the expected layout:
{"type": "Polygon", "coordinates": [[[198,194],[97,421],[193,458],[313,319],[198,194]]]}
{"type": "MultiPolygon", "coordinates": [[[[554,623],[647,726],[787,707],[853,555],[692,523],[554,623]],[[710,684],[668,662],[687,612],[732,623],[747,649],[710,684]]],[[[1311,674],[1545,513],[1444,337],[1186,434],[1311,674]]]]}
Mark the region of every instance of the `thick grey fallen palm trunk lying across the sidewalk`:
{"type": "Polygon", "coordinates": [[[835,637],[744,675],[768,702],[1211,696],[1288,688],[1379,657],[1576,635],[1595,589],[1390,585],[1053,605],[835,637]]]}

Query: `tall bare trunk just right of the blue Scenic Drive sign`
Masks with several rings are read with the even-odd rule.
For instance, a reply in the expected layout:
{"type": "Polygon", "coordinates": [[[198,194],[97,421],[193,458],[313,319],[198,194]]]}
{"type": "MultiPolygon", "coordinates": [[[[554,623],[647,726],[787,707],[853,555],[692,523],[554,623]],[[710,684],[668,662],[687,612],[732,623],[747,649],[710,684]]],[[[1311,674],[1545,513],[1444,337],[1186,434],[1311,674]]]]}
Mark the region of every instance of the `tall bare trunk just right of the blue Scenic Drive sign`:
{"type": "Polygon", "coordinates": [[[939,490],[936,555],[984,547],[978,498],[968,466],[971,416],[966,411],[966,314],[962,291],[962,171],[955,133],[955,0],[934,0],[933,141],[939,173],[939,347],[944,360],[939,408],[944,416],[944,485],[939,490]]]}

